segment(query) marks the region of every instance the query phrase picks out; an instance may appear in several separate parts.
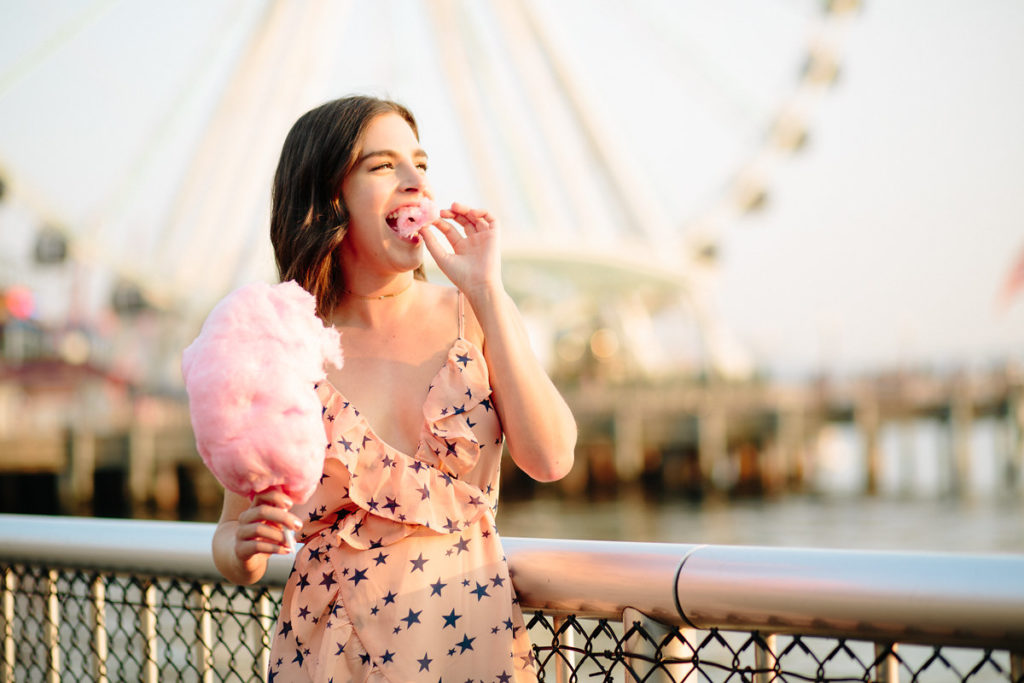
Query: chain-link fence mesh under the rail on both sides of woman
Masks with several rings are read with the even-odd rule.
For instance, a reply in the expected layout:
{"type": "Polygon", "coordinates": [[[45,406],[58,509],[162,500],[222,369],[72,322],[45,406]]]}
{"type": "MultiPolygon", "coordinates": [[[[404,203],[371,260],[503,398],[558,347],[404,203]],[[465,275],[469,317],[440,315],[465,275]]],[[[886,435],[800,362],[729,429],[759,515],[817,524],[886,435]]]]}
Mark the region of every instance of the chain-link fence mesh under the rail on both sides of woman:
{"type": "MultiPolygon", "coordinates": [[[[263,681],[278,588],[0,564],[0,680],[263,681]]],[[[874,644],[535,611],[542,680],[1011,681],[990,649],[874,644]]]]}

